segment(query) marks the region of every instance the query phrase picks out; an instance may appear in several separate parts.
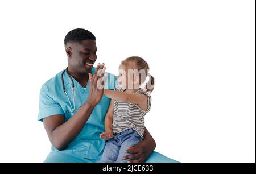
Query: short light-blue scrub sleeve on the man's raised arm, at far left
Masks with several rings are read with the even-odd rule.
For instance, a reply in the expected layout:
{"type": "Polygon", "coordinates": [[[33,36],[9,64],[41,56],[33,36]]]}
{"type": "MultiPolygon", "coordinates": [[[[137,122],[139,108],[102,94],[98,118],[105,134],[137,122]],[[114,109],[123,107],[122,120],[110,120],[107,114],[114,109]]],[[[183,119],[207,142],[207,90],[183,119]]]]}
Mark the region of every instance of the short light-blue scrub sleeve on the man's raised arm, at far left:
{"type": "Polygon", "coordinates": [[[53,100],[49,95],[49,90],[46,85],[42,86],[39,98],[39,121],[43,121],[44,118],[51,115],[64,115],[64,111],[59,103],[53,100]]]}

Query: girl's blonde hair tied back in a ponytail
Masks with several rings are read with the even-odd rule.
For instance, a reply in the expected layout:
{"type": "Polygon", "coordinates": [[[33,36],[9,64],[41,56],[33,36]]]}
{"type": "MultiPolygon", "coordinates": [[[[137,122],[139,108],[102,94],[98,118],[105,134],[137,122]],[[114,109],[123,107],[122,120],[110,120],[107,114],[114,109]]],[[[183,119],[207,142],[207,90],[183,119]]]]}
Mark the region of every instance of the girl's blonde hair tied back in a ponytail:
{"type": "MultiPolygon", "coordinates": [[[[125,67],[126,70],[128,68],[138,69],[138,71],[144,70],[146,72],[146,77],[148,76],[150,78],[148,82],[146,82],[146,85],[144,87],[149,92],[153,91],[155,85],[155,78],[151,76],[151,74],[148,72],[150,68],[144,59],[138,56],[128,57],[127,59],[121,62],[121,65],[123,65],[123,67],[125,67]]],[[[139,85],[143,84],[143,82],[146,80],[146,77],[142,79],[141,74],[139,74],[139,85]]]]}

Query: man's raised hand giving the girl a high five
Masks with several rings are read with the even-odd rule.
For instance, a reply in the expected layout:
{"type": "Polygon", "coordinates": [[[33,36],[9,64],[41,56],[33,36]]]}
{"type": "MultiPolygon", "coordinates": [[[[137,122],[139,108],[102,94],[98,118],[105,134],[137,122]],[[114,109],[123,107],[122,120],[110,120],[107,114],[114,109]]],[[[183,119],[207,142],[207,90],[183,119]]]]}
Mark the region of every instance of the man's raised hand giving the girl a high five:
{"type": "Polygon", "coordinates": [[[105,70],[105,64],[98,63],[93,76],[91,73],[89,73],[90,83],[88,101],[92,103],[92,105],[97,105],[97,103],[101,101],[101,98],[103,96],[104,85],[107,78],[107,76],[104,77],[105,70]]]}

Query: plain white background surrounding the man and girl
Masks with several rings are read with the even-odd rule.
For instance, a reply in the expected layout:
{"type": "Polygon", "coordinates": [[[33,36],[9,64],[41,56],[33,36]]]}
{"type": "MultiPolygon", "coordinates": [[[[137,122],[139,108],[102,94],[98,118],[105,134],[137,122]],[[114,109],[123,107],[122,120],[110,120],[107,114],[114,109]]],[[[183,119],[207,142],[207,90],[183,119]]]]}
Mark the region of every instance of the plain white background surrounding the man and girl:
{"type": "Polygon", "coordinates": [[[64,36],[96,35],[117,74],[141,56],[156,78],[146,127],[181,162],[255,162],[255,1],[1,1],[1,162],[42,162],[40,86],[67,67],[64,36]]]}

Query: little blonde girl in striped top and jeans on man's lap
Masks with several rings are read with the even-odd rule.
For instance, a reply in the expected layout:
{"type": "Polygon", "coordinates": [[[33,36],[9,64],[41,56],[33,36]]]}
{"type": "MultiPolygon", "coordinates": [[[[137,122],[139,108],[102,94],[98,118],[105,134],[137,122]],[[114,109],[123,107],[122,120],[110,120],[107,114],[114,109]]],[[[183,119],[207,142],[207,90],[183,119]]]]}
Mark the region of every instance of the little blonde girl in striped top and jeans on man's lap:
{"type": "Polygon", "coordinates": [[[105,132],[100,138],[106,140],[101,163],[127,162],[123,157],[127,147],[143,140],[144,116],[150,111],[154,78],[148,73],[147,62],[141,57],[129,57],[119,66],[118,86],[115,90],[104,90],[111,98],[105,116],[105,132]],[[142,84],[150,80],[145,86],[142,84]]]}

